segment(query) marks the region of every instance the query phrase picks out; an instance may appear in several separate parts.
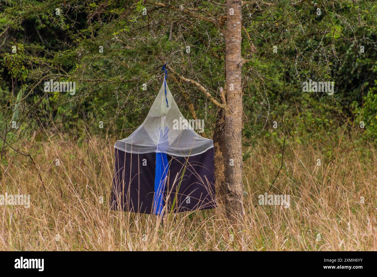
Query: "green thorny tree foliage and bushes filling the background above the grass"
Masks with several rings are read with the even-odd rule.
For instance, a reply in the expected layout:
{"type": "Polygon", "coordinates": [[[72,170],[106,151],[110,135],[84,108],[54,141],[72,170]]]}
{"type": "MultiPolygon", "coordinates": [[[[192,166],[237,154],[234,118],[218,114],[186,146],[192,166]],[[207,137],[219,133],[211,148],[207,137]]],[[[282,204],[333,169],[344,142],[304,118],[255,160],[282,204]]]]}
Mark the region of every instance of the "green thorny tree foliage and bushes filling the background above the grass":
{"type": "MultiPolygon", "coordinates": [[[[224,6],[207,1],[169,3],[174,8],[152,1],[112,0],[0,4],[0,34],[6,35],[4,43],[3,37],[0,41],[2,128],[12,118],[29,131],[35,126],[32,122],[46,127],[52,119],[62,130],[75,129],[77,136],[84,126],[98,136],[127,136],[143,121],[161,86],[164,61],[220,101],[226,22],[217,26],[196,15],[220,22],[226,15],[224,6]],[[142,14],[144,8],[147,15],[142,14]],[[44,82],[51,79],[75,81],[76,95],[44,92],[44,82]],[[141,89],[144,83],[146,91],[141,89]],[[99,121],[104,129],[98,129],[99,121]]],[[[345,122],[362,119],[365,135],[374,138],[377,3],[276,3],[242,8],[242,56],[248,60],[242,71],[244,115],[245,122],[253,122],[245,125],[244,147],[251,147],[259,132],[281,136],[283,110],[286,130],[300,141],[320,140],[345,122]],[[309,79],[334,81],[334,95],[303,93],[302,82],[309,79]],[[271,128],[273,121],[279,123],[278,130],[271,128]],[[263,127],[256,131],[252,126],[263,127]]],[[[171,74],[167,80],[182,113],[189,115],[181,94],[185,89],[211,136],[216,106],[195,86],[175,83],[171,74]]],[[[247,151],[244,159],[250,157],[247,151]]]]}

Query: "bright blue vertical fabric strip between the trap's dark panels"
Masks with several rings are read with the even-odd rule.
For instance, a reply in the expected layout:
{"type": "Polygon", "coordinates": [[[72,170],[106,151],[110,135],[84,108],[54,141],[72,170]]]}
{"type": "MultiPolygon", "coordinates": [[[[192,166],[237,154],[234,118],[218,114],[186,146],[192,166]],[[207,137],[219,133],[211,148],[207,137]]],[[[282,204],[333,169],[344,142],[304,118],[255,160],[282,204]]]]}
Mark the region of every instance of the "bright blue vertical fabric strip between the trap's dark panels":
{"type": "Polygon", "coordinates": [[[165,153],[156,153],[155,195],[153,197],[153,213],[162,214],[164,208],[164,190],[169,164],[165,153]]]}

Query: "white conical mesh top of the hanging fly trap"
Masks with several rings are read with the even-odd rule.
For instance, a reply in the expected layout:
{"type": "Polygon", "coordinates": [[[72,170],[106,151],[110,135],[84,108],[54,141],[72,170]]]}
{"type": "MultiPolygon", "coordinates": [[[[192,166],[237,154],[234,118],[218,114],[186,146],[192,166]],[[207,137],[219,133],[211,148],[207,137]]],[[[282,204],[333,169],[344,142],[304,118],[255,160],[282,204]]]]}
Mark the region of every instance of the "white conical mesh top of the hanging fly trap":
{"type": "Polygon", "coordinates": [[[136,154],[156,152],[193,156],[213,147],[211,139],[198,135],[190,124],[181,124],[187,121],[179,111],[167,84],[165,95],[164,83],[143,124],[128,138],[117,141],[115,148],[136,154]]]}

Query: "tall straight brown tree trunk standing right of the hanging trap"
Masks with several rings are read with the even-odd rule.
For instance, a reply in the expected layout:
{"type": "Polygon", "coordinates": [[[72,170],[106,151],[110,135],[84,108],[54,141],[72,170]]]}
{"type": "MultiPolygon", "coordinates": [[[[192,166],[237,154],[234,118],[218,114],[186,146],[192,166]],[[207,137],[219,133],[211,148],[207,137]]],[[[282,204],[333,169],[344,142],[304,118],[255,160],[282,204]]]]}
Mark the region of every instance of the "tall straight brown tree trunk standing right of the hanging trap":
{"type": "Polygon", "coordinates": [[[241,0],[227,0],[225,31],[226,101],[224,111],[225,209],[232,221],[244,213],[242,189],[241,0]],[[233,10],[232,10],[233,9],[233,10]]]}

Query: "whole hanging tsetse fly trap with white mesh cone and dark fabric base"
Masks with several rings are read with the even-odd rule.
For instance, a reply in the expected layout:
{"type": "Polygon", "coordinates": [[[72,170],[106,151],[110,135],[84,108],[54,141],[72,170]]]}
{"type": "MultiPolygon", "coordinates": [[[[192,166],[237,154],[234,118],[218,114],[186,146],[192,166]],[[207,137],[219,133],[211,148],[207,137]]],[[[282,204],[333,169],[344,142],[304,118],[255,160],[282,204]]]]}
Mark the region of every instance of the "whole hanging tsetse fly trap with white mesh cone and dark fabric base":
{"type": "Polygon", "coordinates": [[[213,141],[186,122],[164,82],[144,122],[115,143],[112,209],[178,213],[215,208],[213,141]]]}

